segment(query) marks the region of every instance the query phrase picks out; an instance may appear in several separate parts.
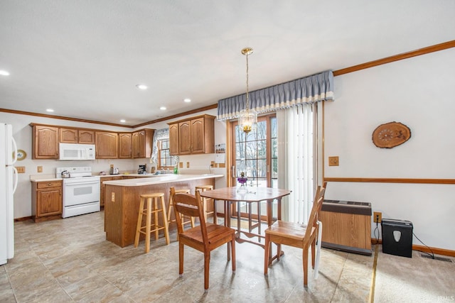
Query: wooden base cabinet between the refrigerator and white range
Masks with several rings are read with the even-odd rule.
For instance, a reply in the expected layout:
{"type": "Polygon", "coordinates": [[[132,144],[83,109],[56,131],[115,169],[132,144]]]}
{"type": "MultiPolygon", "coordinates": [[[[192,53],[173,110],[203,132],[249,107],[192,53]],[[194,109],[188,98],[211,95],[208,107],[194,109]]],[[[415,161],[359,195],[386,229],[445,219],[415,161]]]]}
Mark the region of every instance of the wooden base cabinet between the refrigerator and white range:
{"type": "Polygon", "coordinates": [[[32,182],[33,221],[41,222],[61,218],[62,191],[62,181],[32,182]]]}

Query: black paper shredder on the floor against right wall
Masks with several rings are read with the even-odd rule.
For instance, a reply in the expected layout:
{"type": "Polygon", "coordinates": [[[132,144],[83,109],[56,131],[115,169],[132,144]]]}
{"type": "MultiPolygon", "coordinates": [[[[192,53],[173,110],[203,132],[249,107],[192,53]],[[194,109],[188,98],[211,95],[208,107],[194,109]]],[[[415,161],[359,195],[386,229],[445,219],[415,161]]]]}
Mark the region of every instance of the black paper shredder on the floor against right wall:
{"type": "Polygon", "coordinates": [[[412,222],[382,219],[382,253],[412,258],[412,222]]]}

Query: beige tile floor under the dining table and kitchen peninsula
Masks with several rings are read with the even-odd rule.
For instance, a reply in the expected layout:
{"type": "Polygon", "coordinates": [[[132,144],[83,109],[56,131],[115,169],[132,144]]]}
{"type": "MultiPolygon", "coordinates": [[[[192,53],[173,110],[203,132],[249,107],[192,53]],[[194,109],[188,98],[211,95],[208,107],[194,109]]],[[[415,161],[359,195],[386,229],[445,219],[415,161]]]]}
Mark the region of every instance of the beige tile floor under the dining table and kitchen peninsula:
{"type": "Polygon", "coordinates": [[[103,211],[15,224],[15,257],[0,266],[0,302],[368,302],[373,257],[323,249],[319,277],[304,288],[301,250],[285,246],[263,275],[264,250],[237,243],[232,274],[225,246],[213,251],[210,290],[203,291],[203,254],[178,242],[152,240],[151,251],[105,241],[103,211]]]}

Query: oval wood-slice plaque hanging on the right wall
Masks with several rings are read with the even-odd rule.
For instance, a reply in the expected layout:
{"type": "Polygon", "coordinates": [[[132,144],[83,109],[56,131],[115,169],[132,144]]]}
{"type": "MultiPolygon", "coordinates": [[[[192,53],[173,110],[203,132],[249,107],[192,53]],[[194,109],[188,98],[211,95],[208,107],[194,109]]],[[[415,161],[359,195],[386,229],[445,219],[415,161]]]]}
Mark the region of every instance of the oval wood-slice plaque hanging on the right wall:
{"type": "Polygon", "coordinates": [[[400,122],[381,124],[373,131],[373,143],[378,148],[395,148],[411,138],[411,130],[400,122]]]}

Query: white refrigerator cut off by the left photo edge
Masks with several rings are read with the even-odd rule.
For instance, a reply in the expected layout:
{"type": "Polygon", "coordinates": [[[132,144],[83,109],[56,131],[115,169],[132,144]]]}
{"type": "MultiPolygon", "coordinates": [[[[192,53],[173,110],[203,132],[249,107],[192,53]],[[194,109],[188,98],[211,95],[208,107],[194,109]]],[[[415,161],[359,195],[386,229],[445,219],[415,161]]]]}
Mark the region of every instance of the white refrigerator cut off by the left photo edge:
{"type": "Polygon", "coordinates": [[[14,257],[14,192],[17,187],[17,146],[13,128],[0,123],[0,265],[14,257]]]}

